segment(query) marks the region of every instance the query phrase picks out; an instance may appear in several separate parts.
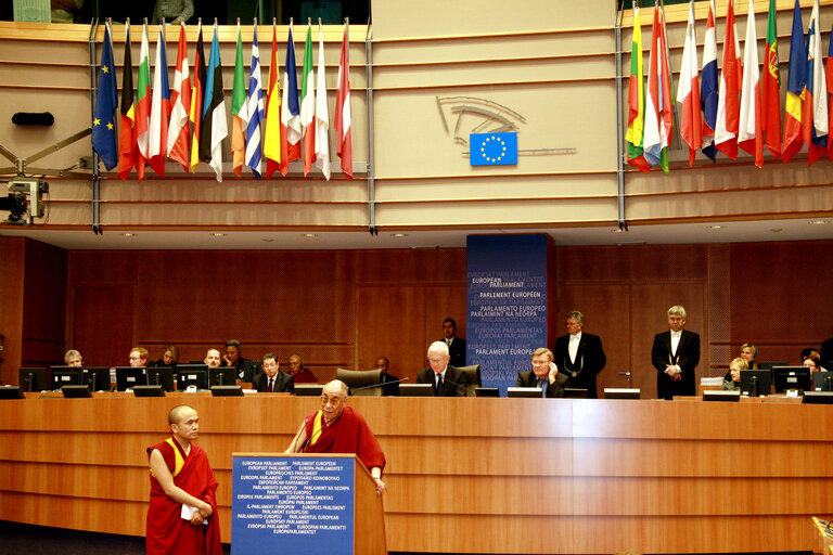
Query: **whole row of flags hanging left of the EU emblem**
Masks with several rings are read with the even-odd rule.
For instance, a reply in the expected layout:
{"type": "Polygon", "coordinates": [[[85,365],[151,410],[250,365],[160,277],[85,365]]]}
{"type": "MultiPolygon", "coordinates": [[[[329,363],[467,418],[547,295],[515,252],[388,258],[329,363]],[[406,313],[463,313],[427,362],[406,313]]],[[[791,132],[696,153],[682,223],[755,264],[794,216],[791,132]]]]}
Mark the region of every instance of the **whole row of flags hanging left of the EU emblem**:
{"type": "MultiPolygon", "coordinates": [[[[335,151],[342,171],[353,179],[350,134],[350,78],[348,33],[345,26],[338,64],[338,89],[333,118],[335,151]]],[[[150,166],[165,177],[166,158],[194,173],[200,163],[208,164],[222,181],[223,141],[230,137],[232,168],[241,176],[244,166],[256,179],[270,178],[275,170],[289,172],[290,162],[304,162],[304,176],[313,167],[330,179],[330,116],[324,80],[324,41],[318,28],[318,74],[312,59],[312,27],[307,26],[300,91],[295,64],[293,26],[286,39],[283,80],[279,78],[278,33],[272,25],[269,81],[261,85],[260,54],[255,25],[246,75],[243,42],[238,23],[234,81],[231,94],[231,132],[227,120],[217,24],[207,59],[203,29],[197,28],[193,69],[189,65],[185,25],[180,25],[174,86],[168,83],[165,37],[159,26],[151,81],[148,26],[142,27],[137,83],[130,52],[130,25],[125,26],[125,63],[120,105],[117,98],[113,41],[110,25],[104,31],[98,92],[92,119],[92,147],[107,170],[118,168],[126,180],[136,169],[137,179],[150,166]],[[118,108],[118,109],[117,109],[118,108]],[[302,146],[303,145],[303,146],[302,146]]]]}

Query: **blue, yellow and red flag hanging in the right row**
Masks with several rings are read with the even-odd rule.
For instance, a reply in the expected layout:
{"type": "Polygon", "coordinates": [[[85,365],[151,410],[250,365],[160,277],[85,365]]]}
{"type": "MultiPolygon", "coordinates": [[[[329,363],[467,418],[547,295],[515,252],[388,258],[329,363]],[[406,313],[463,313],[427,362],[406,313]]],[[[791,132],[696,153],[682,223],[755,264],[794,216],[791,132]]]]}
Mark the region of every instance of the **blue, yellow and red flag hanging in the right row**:
{"type": "Polygon", "coordinates": [[[784,102],[784,143],[782,159],[790,159],[804,146],[802,117],[807,85],[807,47],[804,42],[802,5],[795,0],[793,10],[793,35],[790,39],[790,66],[786,78],[786,101],[784,102]]]}

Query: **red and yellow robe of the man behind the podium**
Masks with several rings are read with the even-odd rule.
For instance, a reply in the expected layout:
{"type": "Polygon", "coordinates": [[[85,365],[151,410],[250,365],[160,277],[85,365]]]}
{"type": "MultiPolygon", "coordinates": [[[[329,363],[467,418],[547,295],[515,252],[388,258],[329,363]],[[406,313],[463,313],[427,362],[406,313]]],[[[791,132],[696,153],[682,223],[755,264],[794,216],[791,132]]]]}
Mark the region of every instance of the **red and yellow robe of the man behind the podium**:
{"type": "Polygon", "coordinates": [[[385,454],[376,436],[359,413],[345,406],[341,416],[324,425],[321,411],[305,418],[307,430],[306,453],[355,453],[368,468],[384,469],[385,454]],[[316,422],[318,421],[318,425],[316,422]]]}

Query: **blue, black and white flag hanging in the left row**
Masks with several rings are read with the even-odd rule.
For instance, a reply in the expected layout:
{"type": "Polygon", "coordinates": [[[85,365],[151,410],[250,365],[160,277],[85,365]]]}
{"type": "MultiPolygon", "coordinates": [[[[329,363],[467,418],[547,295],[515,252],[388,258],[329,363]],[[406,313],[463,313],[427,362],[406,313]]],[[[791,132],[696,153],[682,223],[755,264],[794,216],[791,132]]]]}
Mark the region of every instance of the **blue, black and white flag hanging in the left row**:
{"type": "Polygon", "coordinates": [[[212,53],[208,56],[208,68],[205,73],[200,159],[207,162],[214,168],[217,181],[222,181],[222,140],[228,137],[229,129],[226,122],[226,98],[222,93],[222,66],[217,33],[217,24],[215,24],[212,53]]]}

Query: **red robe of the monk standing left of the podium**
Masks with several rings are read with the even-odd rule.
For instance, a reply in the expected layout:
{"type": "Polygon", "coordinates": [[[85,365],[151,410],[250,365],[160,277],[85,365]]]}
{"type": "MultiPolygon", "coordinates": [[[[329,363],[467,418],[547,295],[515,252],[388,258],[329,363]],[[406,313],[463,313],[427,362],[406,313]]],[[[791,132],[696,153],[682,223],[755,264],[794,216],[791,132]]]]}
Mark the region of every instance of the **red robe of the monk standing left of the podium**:
{"type": "Polygon", "coordinates": [[[208,517],[208,525],[192,525],[182,518],[182,504],[168,498],[151,473],[151,504],[148,507],[145,540],[148,555],[222,555],[215,496],[217,480],[208,464],[208,455],[193,443],[190,453],[185,455],[172,437],[149,447],[148,459],[154,449],[158,449],[165,459],[174,476],[174,485],[212,505],[214,513],[208,517]]]}

